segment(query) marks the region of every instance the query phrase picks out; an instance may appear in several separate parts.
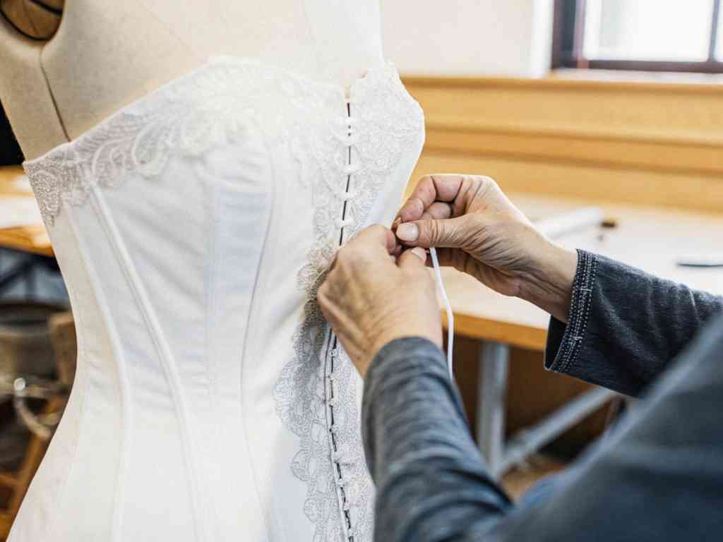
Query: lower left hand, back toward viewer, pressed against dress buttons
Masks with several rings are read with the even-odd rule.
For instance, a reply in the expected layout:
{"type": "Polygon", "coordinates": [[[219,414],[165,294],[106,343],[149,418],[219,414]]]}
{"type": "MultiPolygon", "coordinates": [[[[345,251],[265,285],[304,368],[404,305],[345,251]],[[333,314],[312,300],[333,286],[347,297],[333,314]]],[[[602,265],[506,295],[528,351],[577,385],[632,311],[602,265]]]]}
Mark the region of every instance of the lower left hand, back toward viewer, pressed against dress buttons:
{"type": "Polygon", "coordinates": [[[382,225],[360,231],[339,250],[317,293],[319,306],[361,377],[376,353],[401,337],[442,345],[435,283],[424,249],[401,252],[382,225]]]}

